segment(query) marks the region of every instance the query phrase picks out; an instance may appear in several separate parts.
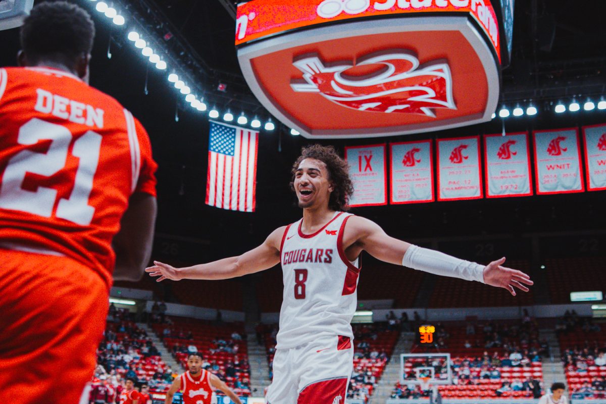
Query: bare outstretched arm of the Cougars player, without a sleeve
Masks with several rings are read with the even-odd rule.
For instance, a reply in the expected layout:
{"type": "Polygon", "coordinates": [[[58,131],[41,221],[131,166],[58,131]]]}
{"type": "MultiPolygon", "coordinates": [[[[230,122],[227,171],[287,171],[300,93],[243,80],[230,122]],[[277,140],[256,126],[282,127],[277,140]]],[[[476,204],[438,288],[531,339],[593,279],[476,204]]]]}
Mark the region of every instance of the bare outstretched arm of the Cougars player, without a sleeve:
{"type": "Polygon", "coordinates": [[[159,276],[156,282],[160,282],[164,279],[229,279],[267,270],[280,262],[280,244],[285,230],[285,226],[274,230],[259,247],[253,248],[241,256],[185,268],[175,268],[154,261],[155,265],[145,268],[145,272],[150,276],[159,276]]]}

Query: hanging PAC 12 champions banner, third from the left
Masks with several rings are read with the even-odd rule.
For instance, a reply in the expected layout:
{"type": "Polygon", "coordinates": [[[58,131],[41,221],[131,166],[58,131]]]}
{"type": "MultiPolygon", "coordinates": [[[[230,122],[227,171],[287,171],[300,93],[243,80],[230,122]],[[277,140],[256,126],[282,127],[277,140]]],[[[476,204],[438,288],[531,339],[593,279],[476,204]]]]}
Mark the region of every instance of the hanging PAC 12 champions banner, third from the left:
{"type": "Polygon", "coordinates": [[[438,200],[480,199],[480,137],[438,140],[438,200]]]}

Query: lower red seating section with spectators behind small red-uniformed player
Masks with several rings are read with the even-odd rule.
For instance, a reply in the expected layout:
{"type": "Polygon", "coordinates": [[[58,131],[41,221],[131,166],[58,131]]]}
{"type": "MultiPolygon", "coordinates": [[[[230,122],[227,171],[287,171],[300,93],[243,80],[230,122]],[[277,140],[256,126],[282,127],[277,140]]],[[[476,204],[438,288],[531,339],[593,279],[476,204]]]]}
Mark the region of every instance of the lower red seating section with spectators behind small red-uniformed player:
{"type": "Polygon", "coordinates": [[[247,343],[232,337],[244,335],[242,323],[218,324],[186,317],[168,319],[170,324],[157,323],[151,327],[184,367],[188,346],[193,345],[202,354],[202,360],[208,362],[208,370],[225,380],[239,396],[250,396],[247,343]]]}

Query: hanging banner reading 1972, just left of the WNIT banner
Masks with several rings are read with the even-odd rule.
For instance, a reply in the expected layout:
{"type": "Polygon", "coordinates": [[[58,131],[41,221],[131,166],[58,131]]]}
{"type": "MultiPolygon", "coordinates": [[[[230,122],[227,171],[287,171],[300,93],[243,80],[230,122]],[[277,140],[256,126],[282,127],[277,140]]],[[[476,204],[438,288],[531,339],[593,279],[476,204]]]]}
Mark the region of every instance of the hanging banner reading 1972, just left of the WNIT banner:
{"type": "Polygon", "coordinates": [[[484,136],[486,197],[532,195],[528,133],[484,136]]]}

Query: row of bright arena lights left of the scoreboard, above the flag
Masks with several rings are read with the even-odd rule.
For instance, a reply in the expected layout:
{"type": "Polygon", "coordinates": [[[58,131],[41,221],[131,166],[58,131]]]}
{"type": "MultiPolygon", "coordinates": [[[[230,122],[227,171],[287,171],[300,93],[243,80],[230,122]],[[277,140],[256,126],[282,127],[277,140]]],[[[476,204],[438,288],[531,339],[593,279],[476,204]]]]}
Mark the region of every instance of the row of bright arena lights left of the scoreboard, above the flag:
{"type": "MultiPolygon", "coordinates": [[[[91,0],[91,1],[97,1],[97,0],[91,0]]],[[[114,24],[116,24],[116,25],[125,24],[124,17],[119,15],[118,11],[115,8],[110,7],[107,3],[103,2],[103,1],[99,1],[95,5],[95,9],[99,13],[103,13],[107,18],[112,19],[112,22],[114,24]]],[[[145,41],[145,39],[141,38],[141,35],[139,35],[139,33],[137,31],[130,31],[128,33],[128,40],[133,42],[135,44],[136,48],[141,49],[142,55],[149,58],[150,63],[154,64],[156,66],[156,68],[158,68],[158,70],[167,69],[168,66],[167,66],[166,62],[163,61],[158,54],[154,53],[153,49],[149,46],[149,44],[145,41]]],[[[179,79],[179,76],[176,73],[170,73],[168,75],[168,81],[173,83],[173,85],[175,85],[175,88],[177,90],[179,90],[179,92],[185,96],[185,101],[189,102],[189,104],[191,105],[192,108],[196,108],[196,110],[198,110],[198,111],[206,111],[208,109],[207,105],[203,102],[204,98],[201,98],[201,99],[196,98],[196,96],[191,93],[191,88],[188,87],[188,85],[185,84],[184,81],[179,79]]],[[[213,108],[211,108],[210,111],[208,111],[208,116],[210,118],[216,119],[216,118],[219,118],[220,114],[219,114],[219,111],[215,107],[213,107],[213,108]]],[[[227,110],[227,112],[225,112],[225,114],[223,114],[223,120],[225,122],[231,122],[234,120],[234,116],[233,116],[233,113],[231,113],[231,110],[227,110]]],[[[240,116],[238,116],[238,119],[236,119],[236,122],[238,122],[239,125],[246,125],[248,123],[248,118],[245,116],[244,112],[242,112],[240,114],[240,116]]],[[[253,118],[250,121],[250,126],[253,128],[261,127],[261,121],[259,121],[259,118],[257,116],[255,116],[255,118],[253,118]]],[[[267,122],[265,122],[264,128],[265,128],[265,130],[271,131],[271,130],[275,130],[276,125],[273,122],[271,122],[271,118],[269,118],[267,120],[267,122]]],[[[293,131],[294,131],[294,129],[293,129],[293,131]]],[[[292,131],[291,131],[291,133],[292,133],[292,131]]],[[[296,134],[299,134],[299,133],[297,132],[296,134]]]]}

